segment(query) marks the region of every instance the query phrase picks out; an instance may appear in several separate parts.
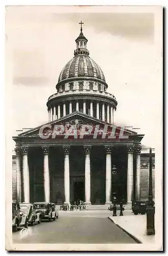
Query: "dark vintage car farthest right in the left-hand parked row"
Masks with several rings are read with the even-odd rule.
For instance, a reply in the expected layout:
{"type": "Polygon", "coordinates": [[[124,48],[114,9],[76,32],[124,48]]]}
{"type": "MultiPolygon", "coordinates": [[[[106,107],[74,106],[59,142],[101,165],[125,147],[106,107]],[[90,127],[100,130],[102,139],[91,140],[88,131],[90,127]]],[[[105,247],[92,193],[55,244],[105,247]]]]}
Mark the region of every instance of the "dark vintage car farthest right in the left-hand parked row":
{"type": "Polygon", "coordinates": [[[59,211],[56,210],[56,205],[49,202],[36,202],[36,212],[39,212],[41,220],[55,220],[59,218],[59,211]]]}

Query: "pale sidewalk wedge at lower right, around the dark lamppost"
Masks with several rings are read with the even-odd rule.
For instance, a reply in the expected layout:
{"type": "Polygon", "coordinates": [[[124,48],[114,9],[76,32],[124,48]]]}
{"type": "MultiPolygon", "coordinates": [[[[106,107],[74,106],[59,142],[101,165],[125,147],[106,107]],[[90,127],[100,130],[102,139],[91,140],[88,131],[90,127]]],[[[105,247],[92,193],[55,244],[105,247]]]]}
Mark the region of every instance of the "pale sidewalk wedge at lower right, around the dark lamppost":
{"type": "Polygon", "coordinates": [[[155,236],[147,236],[145,234],[146,230],[146,215],[134,215],[133,213],[129,213],[129,215],[124,216],[110,216],[108,217],[111,221],[113,221],[116,225],[118,225],[121,229],[127,232],[131,237],[136,239],[138,243],[142,244],[154,244],[155,236]]]}

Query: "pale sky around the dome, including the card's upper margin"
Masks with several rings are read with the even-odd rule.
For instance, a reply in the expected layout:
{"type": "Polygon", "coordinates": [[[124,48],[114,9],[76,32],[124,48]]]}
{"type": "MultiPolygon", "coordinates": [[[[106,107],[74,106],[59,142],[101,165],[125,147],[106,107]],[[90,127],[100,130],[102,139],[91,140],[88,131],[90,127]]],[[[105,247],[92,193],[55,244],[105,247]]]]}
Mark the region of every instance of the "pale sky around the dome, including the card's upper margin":
{"type": "Polygon", "coordinates": [[[12,135],[47,122],[46,102],[74,56],[80,20],[90,57],[101,67],[107,91],[117,98],[115,124],[141,128],[142,143],[156,147],[162,124],[159,6],[7,7],[6,91],[12,102],[12,135]]]}

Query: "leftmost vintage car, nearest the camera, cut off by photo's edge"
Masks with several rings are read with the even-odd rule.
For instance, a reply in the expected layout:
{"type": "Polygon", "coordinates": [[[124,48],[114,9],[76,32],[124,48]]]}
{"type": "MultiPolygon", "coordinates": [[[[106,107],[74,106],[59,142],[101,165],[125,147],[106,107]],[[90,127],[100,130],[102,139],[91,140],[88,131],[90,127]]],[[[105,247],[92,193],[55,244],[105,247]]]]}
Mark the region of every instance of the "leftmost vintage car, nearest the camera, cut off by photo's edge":
{"type": "Polygon", "coordinates": [[[20,206],[18,202],[12,202],[12,230],[17,231],[19,227],[28,226],[27,214],[20,214],[20,206]]]}

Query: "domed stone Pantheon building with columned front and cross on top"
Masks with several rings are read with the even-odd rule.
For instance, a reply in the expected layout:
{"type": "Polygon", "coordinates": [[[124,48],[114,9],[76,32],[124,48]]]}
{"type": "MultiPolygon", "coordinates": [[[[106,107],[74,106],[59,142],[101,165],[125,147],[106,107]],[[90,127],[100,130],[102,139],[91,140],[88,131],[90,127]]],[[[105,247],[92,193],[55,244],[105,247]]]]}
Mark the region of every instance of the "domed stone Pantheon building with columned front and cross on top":
{"type": "MultiPolygon", "coordinates": [[[[48,122],[13,137],[13,199],[103,205],[116,193],[128,205],[147,200],[144,134],[115,123],[117,99],[90,57],[82,26],[75,42],[74,57],[47,100],[48,122]]],[[[154,149],[152,156],[154,191],[154,149]]]]}

